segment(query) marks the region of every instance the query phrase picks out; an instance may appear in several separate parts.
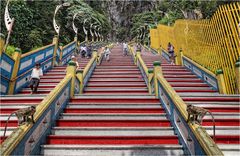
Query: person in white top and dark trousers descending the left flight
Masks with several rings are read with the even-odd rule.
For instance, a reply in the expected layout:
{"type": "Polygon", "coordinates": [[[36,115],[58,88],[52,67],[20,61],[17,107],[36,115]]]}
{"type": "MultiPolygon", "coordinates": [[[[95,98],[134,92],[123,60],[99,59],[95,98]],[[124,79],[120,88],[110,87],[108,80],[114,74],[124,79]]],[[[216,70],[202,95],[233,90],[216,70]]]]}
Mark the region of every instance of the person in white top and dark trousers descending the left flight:
{"type": "Polygon", "coordinates": [[[31,94],[37,93],[37,88],[40,82],[40,76],[43,76],[40,63],[36,63],[35,68],[32,70],[31,79],[30,79],[30,88],[31,94]]]}

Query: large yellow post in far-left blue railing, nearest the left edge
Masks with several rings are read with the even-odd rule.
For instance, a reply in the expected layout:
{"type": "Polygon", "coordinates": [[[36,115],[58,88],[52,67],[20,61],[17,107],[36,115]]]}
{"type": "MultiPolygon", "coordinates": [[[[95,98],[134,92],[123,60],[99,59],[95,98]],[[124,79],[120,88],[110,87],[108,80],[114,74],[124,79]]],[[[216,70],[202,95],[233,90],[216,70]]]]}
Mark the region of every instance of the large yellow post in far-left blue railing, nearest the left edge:
{"type": "Polygon", "coordinates": [[[14,60],[14,66],[13,66],[13,70],[12,70],[12,75],[11,75],[11,81],[9,82],[9,87],[8,87],[8,94],[13,94],[14,93],[14,88],[15,88],[15,84],[16,84],[16,77],[17,77],[17,73],[18,73],[18,69],[20,66],[20,59],[21,59],[21,51],[19,50],[15,50],[14,54],[13,54],[13,60],[14,60]]]}

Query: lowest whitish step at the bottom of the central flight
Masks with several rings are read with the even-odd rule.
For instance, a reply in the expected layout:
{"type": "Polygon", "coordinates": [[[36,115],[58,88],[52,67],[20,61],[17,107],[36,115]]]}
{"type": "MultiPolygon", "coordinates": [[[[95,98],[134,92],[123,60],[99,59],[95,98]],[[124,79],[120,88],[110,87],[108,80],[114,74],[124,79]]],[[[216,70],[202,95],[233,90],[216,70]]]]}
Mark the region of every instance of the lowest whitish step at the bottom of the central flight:
{"type": "Polygon", "coordinates": [[[41,154],[59,156],[134,156],[134,155],[183,155],[180,145],[43,145],[41,154]]]}

